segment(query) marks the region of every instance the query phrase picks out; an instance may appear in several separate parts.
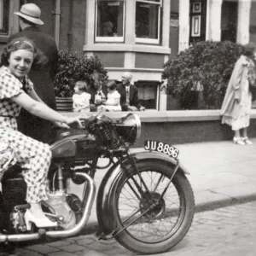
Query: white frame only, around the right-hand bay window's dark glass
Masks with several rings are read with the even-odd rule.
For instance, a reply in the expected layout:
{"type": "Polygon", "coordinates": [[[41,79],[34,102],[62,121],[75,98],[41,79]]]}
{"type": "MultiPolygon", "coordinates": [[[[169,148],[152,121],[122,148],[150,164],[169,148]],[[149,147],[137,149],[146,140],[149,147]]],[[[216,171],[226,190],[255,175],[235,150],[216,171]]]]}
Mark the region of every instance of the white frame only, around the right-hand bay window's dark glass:
{"type": "MultiPolygon", "coordinates": [[[[152,3],[155,5],[158,5],[158,35],[157,35],[157,39],[154,38],[137,38],[137,36],[135,37],[135,42],[139,43],[139,44],[160,44],[160,31],[161,31],[161,8],[162,8],[162,4],[163,4],[163,0],[160,0],[159,3],[154,2],[154,1],[150,1],[150,0],[136,0],[135,1],[135,9],[136,9],[136,5],[137,3],[152,3]]],[[[135,22],[136,22],[136,17],[135,17],[135,22]]]]}

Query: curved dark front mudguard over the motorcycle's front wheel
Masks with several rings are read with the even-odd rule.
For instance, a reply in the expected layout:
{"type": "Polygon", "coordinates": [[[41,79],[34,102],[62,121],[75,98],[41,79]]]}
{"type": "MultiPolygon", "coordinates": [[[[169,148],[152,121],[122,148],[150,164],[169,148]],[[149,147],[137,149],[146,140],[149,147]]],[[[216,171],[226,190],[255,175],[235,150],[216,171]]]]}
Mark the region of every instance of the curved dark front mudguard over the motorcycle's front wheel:
{"type": "MultiPolygon", "coordinates": [[[[161,154],[157,152],[138,152],[132,154],[135,162],[141,161],[159,161],[164,162],[166,166],[170,166],[170,170],[174,169],[177,165],[177,161],[170,158],[166,154],[161,154]]],[[[106,173],[102,179],[102,183],[99,187],[97,199],[96,199],[96,213],[99,224],[99,229],[101,233],[106,236],[113,232],[113,224],[115,220],[113,218],[112,212],[110,212],[110,200],[112,199],[114,192],[115,181],[125,172],[125,170],[120,166],[119,163],[114,164],[106,173]],[[103,220],[104,218],[104,220],[103,220]]],[[[188,170],[179,163],[177,172],[183,172],[184,174],[189,174],[188,170]]]]}

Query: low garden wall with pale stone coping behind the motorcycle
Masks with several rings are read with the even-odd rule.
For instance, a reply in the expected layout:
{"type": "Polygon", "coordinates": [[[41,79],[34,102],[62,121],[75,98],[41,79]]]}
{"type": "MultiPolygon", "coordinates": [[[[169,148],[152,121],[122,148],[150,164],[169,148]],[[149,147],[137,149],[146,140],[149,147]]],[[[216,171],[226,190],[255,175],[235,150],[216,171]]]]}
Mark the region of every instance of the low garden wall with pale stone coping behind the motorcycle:
{"type": "MultiPolygon", "coordinates": [[[[67,113],[77,115],[77,113],[67,113]]],[[[94,113],[89,113],[89,115],[94,113]]],[[[125,112],[106,113],[119,119],[125,112]]],[[[180,110],[136,112],[142,123],[142,134],[134,147],[143,147],[144,140],[152,139],[169,144],[199,143],[231,140],[230,126],[221,125],[219,110],[180,110]]],[[[256,109],[252,110],[249,137],[256,137],[256,109]]]]}

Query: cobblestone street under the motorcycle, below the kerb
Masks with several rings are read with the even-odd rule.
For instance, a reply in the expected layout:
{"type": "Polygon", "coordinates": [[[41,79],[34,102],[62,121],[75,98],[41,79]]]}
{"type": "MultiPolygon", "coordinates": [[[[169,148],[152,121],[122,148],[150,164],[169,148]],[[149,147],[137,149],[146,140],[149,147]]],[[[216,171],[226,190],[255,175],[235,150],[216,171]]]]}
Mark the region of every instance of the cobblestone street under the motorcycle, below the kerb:
{"type": "MultiPolygon", "coordinates": [[[[195,214],[189,233],[168,256],[256,255],[256,201],[195,214]]],[[[92,235],[17,248],[17,256],[136,255],[117,242],[101,243],[92,235]]],[[[156,254],[155,254],[156,255],[156,254]]]]}

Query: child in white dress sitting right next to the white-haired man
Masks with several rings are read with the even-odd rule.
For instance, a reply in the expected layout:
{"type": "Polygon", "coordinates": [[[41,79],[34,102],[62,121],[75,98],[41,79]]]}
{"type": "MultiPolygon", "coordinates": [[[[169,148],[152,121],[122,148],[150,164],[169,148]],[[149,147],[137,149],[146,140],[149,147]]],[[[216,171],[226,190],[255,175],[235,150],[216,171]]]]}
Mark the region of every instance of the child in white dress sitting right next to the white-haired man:
{"type": "Polygon", "coordinates": [[[98,111],[122,111],[120,105],[120,94],[116,90],[116,83],[109,81],[107,84],[107,101],[102,106],[98,107],[98,111]]]}

